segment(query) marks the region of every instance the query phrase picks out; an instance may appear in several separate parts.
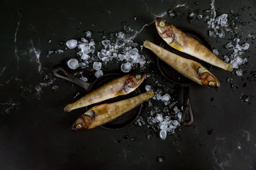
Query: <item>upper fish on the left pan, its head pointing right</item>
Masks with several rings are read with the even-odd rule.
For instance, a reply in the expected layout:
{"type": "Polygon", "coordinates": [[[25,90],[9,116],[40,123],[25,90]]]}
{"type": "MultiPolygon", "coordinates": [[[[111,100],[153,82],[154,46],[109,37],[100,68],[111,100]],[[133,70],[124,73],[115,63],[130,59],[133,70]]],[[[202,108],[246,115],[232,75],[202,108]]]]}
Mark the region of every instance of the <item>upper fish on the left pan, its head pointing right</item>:
{"type": "Polygon", "coordinates": [[[93,90],[89,94],[81,97],[76,102],[67,104],[64,111],[69,112],[77,108],[83,108],[91,104],[106,101],[113,97],[129,94],[140,86],[145,80],[146,75],[145,73],[127,74],[110,81],[102,87],[99,87],[99,89],[93,90]]]}

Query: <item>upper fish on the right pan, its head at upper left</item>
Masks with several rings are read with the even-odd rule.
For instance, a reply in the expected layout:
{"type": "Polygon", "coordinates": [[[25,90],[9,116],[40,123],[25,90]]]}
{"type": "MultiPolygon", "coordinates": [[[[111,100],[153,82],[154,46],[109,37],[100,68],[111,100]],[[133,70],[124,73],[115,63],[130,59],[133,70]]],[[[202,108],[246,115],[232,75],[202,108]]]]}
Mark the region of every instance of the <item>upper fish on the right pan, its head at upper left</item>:
{"type": "Polygon", "coordinates": [[[224,62],[217,55],[211,52],[204,45],[196,41],[196,39],[188,36],[180,29],[177,29],[172,24],[166,22],[166,20],[157,17],[155,19],[156,29],[161,38],[176,50],[180,52],[188,53],[200,60],[212,64],[213,66],[220,67],[227,71],[232,71],[233,66],[230,63],[224,62]]]}

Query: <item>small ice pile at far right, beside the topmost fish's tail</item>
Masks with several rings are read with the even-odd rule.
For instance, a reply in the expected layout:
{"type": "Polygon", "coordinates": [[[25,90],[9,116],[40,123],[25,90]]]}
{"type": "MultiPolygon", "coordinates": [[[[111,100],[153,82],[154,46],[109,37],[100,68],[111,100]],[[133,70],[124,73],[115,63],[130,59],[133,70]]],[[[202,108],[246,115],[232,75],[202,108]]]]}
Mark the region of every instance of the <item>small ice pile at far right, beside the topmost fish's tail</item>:
{"type": "MultiPolygon", "coordinates": [[[[239,45],[239,38],[234,38],[232,42],[227,43],[225,45],[225,48],[227,50],[232,51],[230,55],[225,55],[224,60],[225,62],[230,62],[234,69],[238,69],[239,66],[245,64],[247,62],[246,58],[243,58],[244,51],[248,50],[250,48],[250,45],[248,43],[243,43],[243,45],[239,45]]],[[[238,71],[237,75],[242,76],[243,74],[240,73],[241,71],[238,71]]]]}

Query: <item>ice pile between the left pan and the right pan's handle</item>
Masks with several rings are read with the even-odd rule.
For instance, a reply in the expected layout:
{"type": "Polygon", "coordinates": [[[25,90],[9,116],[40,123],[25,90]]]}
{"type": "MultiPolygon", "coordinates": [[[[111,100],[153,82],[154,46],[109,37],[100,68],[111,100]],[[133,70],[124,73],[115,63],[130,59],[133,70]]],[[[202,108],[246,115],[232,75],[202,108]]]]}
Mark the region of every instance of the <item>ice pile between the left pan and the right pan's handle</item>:
{"type": "MultiPolygon", "coordinates": [[[[148,76],[148,78],[154,80],[157,89],[145,85],[145,90],[154,90],[155,93],[154,97],[147,101],[148,107],[150,107],[146,117],[147,127],[158,133],[161,139],[166,139],[168,132],[173,134],[175,129],[180,126],[182,113],[175,106],[178,102],[170,96],[173,92],[172,88],[161,85],[153,76],[148,76]]],[[[138,117],[134,124],[142,126],[145,125],[145,121],[142,117],[138,117]]]]}

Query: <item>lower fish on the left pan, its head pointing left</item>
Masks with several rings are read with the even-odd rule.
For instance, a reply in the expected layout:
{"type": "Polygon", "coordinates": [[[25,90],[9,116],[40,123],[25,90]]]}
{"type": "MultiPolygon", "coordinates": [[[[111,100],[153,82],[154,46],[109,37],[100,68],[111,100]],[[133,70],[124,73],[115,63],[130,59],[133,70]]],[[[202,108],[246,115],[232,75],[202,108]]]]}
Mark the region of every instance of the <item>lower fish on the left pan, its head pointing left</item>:
{"type": "Polygon", "coordinates": [[[115,103],[105,103],[99,106],[94,106],[86,111],[81,117],[77,118],[76,122],[72,125],[72,131],[84,131],[86,129],[93,129],[99,125],[106,124],[117,117],[120,117],[129,110],[150,99],[154,96],[152,90],[140,94],[129,99],[118,101],[115,103]]]}

